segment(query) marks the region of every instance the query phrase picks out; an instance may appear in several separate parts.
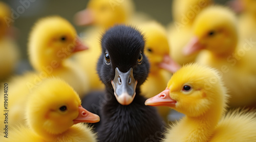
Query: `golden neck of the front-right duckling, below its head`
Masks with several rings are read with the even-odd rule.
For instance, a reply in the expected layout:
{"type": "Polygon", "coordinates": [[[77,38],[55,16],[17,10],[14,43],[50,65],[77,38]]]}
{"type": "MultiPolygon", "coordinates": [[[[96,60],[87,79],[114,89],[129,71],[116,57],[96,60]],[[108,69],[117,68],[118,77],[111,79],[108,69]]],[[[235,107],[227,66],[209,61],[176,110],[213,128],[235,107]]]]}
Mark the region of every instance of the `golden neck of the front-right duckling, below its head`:
{"type": "Polygon", "coordinates": [[[179,129],[183,129],[183,135],[186,136],[182,137],[185,138],[183,141],[209,141],[221,117],[222,111],[218,108],[211,109],[199,117],[184,117],[179,123],[179,129]]]}

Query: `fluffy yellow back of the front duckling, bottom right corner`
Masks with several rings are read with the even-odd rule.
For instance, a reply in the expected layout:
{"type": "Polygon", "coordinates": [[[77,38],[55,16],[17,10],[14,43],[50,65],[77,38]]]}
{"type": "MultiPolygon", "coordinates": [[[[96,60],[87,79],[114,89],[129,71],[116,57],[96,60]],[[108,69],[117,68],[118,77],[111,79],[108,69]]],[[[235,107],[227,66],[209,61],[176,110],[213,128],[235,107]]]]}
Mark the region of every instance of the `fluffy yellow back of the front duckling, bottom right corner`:
{"type": "Polygon", "coordinates": [[[227,112],[210,141],[256,141],[256,112],[235,109],[227,112]]]}

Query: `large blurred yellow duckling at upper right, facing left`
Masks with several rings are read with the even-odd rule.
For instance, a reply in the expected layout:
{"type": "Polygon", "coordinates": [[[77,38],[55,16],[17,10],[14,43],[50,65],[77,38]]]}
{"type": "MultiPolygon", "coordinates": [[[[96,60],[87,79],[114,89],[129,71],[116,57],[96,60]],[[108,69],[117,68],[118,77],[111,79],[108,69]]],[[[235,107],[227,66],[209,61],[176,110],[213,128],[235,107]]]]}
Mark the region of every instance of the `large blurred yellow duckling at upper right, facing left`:
{"type": "Polygon", "coordinates": [[[184,49],[184,54],[206,49],[197,62],[221,71],[231,95],[229,105],[255,106],[256,66],[253,65],[256,64],[256,46],[248,41],[237,47],[238,33],[233,12],[220,6],[202,11],[195,21],[193,33],[194,38],[184,49]]]}

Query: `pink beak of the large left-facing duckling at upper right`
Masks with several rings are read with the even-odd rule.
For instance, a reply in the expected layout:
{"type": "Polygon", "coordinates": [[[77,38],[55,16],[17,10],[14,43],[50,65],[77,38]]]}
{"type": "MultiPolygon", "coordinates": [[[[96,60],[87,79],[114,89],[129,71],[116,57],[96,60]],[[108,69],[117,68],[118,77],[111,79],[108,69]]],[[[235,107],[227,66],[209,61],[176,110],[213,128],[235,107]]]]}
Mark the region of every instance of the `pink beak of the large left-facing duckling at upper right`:
{"type": "Polygon", "coordinates": [[[190,55],[190,54],[196,53],[204,48],[205,48],[205,46],[202,43],[200,43],[199,38],[193,37],[188,42],[188,44],[184,47],[183,54],[190,55]]]}

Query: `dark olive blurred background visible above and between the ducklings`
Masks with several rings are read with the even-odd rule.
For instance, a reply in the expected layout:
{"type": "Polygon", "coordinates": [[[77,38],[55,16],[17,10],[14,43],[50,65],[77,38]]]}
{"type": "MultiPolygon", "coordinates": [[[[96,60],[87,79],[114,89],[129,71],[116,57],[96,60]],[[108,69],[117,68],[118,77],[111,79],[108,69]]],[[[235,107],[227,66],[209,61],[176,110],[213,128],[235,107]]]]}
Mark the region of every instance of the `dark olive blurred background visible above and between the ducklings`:
{"type": "MultiPolygon", "coordinates": [[[[17,18],[14,21],[14,26],[18,29],[17,43],[22,51],[22,59],[27,59],[27,42],[28,35],[33,26],[39,18],[59,15],[68,19],[76,28],[77,33],[81,33],[86,27],[77,26],[74,24],[73,16],[76,12],[86,8],[88,0],[62,0],[62,1],[50,1],[50,0],[27,0],[30,2],[30,6],[24,9],[18,9],[22,6],[25,0],[5,0],[12,8],[12,12],[19,10],[21,14],[17,13],[17,18]]],[[[189,0],[188,0],[189,1],[189,0]]],[[[172,21],[172,0],[137,0],[134,1],[135,9],[138,12],[143,12],[151,16],[151,18],[157,20],[163,25],[167,25],[172,21]]],[[[226,4],[227,0],[215,0],[217,4],[226,4]]]]}

